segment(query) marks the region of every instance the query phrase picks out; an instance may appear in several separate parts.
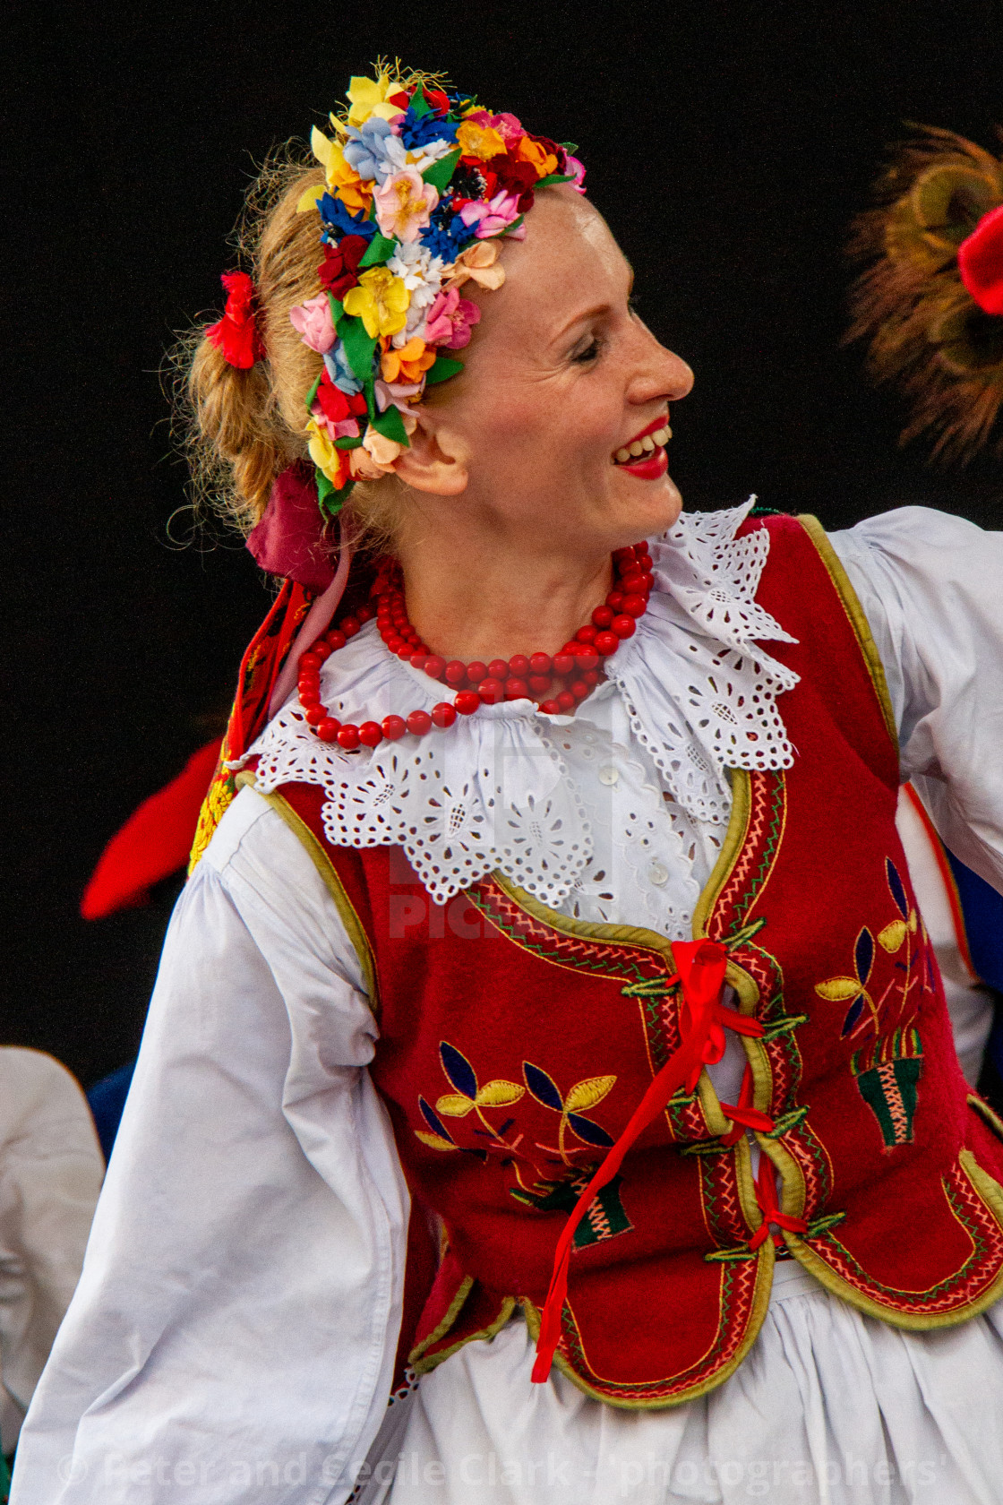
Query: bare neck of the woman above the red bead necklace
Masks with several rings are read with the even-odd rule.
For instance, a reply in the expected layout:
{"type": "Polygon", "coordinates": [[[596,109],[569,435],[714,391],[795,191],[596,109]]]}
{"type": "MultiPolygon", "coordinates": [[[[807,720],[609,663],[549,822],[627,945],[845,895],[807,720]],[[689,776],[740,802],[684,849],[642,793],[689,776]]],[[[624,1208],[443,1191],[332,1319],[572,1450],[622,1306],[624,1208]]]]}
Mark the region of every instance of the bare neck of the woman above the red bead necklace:
{"type": "Polygon", "coordinates": [[[540,539],[412,537],[397,554],[412,626],[435,653],[465,662],[556,653],[612,581],[609,551],[567,554],[540,539]]]}

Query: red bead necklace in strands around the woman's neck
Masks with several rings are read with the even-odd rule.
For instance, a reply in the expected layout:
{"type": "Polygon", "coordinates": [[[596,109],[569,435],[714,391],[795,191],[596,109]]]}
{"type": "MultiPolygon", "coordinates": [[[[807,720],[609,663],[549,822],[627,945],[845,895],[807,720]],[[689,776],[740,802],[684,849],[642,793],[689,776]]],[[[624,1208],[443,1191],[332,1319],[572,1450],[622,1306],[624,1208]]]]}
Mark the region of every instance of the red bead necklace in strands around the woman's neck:
{"type": "Polygon", "coordinates": [[[516,653],[510,659],[475,659],[447,662],[432,653],[408,622],[405,587],[400,566],[388,560],[373,584],[376,607],[356,607],[328,629],[299,659],[299,703],[307,722],[322,742],[337,742],[346,751],[374,748],[386,739],[395,742],[405,731],[423,737],[433,727],[451,727],[457,718],[472,715],[478,706],[493,706],[499,700],[535,700],[547,715],[570,715],[598,683],[603,659],[617,652],[621,641],[633,635],[638,617],[648,610],[651,593],[651,554],[647,543],[614,552],[614,588],[606,604],[597,607],[591,622],[579,628],[559,653],[516,653]],[[320,665],[376,617],[380,637],[398,659],[423,670],[432,679],[444,680],[456,691],[453,701],[441,700],[432,710],[412,710],[408,716],[383,716],[382,721],[341,724],[320,700],[320,665]]]}

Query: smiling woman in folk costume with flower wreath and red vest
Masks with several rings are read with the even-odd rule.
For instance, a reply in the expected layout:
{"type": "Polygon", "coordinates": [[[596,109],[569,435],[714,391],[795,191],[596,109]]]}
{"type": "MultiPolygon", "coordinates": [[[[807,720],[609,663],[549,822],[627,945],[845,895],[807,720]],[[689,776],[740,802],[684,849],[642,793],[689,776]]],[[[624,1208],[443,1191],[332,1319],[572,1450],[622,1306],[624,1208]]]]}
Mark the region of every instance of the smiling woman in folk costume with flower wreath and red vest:
{"type": "Polygon", "coordinates": [[[332,125],[194,358],[286,584],[15,1505],[998,1499],[895,807],[1003,885],[1003,546],[681,513],[573,147],[389,69],[332,125]]]}

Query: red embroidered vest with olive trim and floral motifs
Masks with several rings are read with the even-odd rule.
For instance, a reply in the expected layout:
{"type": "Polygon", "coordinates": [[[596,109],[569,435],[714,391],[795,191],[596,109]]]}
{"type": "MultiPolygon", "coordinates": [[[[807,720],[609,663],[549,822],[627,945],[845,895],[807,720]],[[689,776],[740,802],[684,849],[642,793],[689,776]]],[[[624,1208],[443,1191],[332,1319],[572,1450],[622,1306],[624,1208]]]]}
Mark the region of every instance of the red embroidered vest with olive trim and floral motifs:
{"type": "MultiPolygon", "coordinates": [[[[725,944],[756,1133],[792,1257],[902,1327],[964,1321],[1003,1294],[1003,1126],[961,1076],[895,829],[884,676],[814,519],[770,530],[758,599],[798,641],[783,695],[794,766],[734,772],[734,811],[693,935],[725,944]]],[[[320,789],[269,796],[326,874],[370,978],[370,1067],[415,1202],[444,1257],[411,1359],[430,1370],[516,1305],[538,1332],[568,1212],[677,1047],[662,936],[567,920],[501,876],[433,905],[402,849],[335,849],[320,789]]],[[[629,1151],[580,1224],[556,1364],[614,1406],[720,1385],[762,1323],[773,1240],[749,1145],[704,1072],[629,1151]]],[[[414,1222],[414,1218],[412,1218],[414,1222]]]]}

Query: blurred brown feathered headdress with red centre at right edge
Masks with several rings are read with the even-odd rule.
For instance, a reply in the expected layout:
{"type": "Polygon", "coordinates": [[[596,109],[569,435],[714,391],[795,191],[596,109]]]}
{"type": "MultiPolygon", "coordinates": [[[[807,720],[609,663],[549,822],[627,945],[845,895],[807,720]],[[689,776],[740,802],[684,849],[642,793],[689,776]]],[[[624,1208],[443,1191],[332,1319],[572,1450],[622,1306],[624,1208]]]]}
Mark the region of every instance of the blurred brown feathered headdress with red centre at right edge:
{"type": "Polygon", "coordinates": [[[914,129],[853,224],[850,253],[868,265],[847,340],[868,340],[872,378],[908,397],[901,442],[931,432],[934,456],[967,461],[1003,405],[1003,161],[953,131],[914,129]]]}

